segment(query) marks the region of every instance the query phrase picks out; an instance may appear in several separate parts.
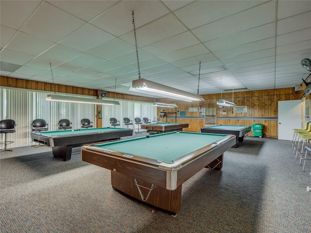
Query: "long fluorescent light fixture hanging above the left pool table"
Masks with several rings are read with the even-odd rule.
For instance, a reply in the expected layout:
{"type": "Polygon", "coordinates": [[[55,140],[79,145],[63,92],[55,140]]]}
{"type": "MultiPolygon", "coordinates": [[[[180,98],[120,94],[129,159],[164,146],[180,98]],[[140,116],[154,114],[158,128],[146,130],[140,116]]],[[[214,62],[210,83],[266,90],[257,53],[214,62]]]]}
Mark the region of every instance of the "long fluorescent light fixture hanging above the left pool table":
{"type": "Polygon", "coordinates": [[[71,97],[71,96],[60,96],[50,94],[46,100],[58,101],[58,102],[73,102],[73,103],[91,103],[91,104],[104,104],[104,105],[120,105],[119,101],[115,100],[101,100],[101,99],[89,99],[83,97],[71,97]]]}

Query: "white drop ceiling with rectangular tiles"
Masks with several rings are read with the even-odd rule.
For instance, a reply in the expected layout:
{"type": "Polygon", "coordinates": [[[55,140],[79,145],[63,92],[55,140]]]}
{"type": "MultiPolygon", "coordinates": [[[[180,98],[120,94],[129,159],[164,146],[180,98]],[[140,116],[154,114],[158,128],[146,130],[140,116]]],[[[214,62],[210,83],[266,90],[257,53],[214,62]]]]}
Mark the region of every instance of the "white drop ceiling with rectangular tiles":
{"type": "Polygon", "coordinates": [[[0,0],[0,75],[137,95],[133,11],[143,79],[205,95],[310,74],[309,0],[0,0]]]}

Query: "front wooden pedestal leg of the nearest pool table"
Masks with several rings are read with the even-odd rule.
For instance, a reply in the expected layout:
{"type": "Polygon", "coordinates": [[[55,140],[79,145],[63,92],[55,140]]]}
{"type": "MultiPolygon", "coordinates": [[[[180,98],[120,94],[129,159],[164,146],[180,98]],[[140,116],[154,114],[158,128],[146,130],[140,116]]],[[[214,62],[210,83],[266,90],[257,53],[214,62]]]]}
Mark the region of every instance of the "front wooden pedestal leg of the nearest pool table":
{"type": "MultiPolygon", "coordinates": [[[[134,177],[111,171],[111,185],[115,190],[142,201],[134,179],[134,177]]],[[[150,188],[152,186],[151,183],[142,180],[138,181],[139,185],[144,187],[150,188]]],[[[149,190],[145,188],[140,189],[143,196],[147,197],[149,190]]],[[[166,188],[155,186],[150,192],[148,199],[144,202],[166,210],[172,215],[176,215],[181,207],[181,185],[175,190],[167,190],[166,188]]]]}

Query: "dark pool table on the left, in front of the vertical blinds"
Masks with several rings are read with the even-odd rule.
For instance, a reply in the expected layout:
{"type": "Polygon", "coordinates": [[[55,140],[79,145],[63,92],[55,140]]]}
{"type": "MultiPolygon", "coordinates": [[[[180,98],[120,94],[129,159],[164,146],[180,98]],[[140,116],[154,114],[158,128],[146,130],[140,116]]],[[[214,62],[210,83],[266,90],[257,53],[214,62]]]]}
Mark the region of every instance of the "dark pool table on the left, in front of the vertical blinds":
{"type": "Polygon", "coordinates": [[[53,156],[55,158],[67,161],[71,158],[71,150],[73,147],[118,140],[124,136],[132,136],[133,130],[107,127],[83,130],[44,131],[42,133],[32,132],[30,134],[34,142],[52,147],[53,156]]]}

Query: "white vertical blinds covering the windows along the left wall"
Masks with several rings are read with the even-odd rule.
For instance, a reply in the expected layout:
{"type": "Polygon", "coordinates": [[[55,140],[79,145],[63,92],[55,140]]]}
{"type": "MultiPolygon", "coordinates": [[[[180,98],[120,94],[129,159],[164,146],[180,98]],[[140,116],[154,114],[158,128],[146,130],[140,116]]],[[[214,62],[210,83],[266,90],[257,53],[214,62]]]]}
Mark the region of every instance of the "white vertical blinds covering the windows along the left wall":
{"type": "MultiPolygon", "coordinates": [[[[23,147],[32,145],[31,124],[34,119],[42,118],[49,124],[49,131],[58,130],[60,119],[69,119],[73,129],[80,129],[80,122],[88,118],[95,126],[96,105],[88,103],[70,103],[47,101],[47,92],[38,92],[15,88],[0,88],[0,118],[15,120],[16,133],[8,133],[7,141],[14,141],[10,147],[23,147]]],[[[70,95],[68,95],[70,96],[70,95]]],[[[148,117],[153,119],[156,115],[156,107],[152,103],[119,100],[120,105],[103,105],[102,126],[109,127],[111,117],[120,120],[123,125],[123,117],[133,119],[135,117],[148,117]]],[[[96,126],[95,126],[96,127],[96,126]]],[[[1,133],[0,141],[4,141],[1,133]]]]}

